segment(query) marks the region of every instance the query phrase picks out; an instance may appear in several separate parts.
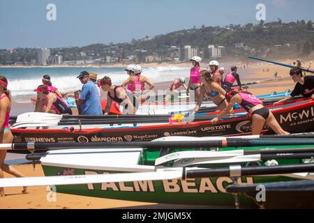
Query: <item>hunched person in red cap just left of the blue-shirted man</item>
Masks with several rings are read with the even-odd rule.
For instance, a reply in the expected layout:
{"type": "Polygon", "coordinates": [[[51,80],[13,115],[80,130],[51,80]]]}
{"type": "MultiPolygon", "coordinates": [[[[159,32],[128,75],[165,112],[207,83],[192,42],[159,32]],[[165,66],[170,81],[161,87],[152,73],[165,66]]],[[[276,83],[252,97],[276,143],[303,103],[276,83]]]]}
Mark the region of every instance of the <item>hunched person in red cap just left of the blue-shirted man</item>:
{"type": "Polygon", "coordinates": [[[47,86],[40,85],[37,89],[39,103],[35,108],[35,112],[46,112],[53,114],[72,114],[70,107],[58,95],[51,93],[47,86]]]}

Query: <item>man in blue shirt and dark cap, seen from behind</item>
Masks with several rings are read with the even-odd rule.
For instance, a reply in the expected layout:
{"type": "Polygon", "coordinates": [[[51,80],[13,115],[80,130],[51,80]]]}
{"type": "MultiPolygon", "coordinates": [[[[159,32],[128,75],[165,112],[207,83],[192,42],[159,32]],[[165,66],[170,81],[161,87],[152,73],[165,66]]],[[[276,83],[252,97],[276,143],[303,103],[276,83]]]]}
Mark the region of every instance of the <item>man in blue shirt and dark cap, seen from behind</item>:
{"type": "Polygon", "coordinates": [[[96,85],[89,79],[89,72],[82,71],[77,78],[84,84],[80,96],[76,98],[77,107],[80,107],[81,114],[103,115],[100,97],[96,85]]]}

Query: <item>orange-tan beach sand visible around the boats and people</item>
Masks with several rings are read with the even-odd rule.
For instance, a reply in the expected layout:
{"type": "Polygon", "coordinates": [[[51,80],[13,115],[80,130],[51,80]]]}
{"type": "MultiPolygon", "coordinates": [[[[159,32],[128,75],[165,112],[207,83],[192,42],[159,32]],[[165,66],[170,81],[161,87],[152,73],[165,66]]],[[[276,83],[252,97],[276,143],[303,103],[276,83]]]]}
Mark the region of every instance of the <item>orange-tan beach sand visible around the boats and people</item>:
{"type": "MultiPolygon", "coordinates": [[[[176,65],[177,66],[177,65],[176,65]]],[[[249,66],[249,75],[242,78],[242,82],[248,82],[246,80],[252,79],[269,79],[274,77],[274,72],[278,72],[278,75],[283,77],[289,77],[289,68],[280,66],[270,66],[262,64],[260,66],[249,66]],[[269,69],[269,72],[263,72],[263,70],[269,69]]],[[[241,73],[244,70],[239,69],[238,73],[241,77],[241,73]]],[[[163,82],[156,84],[156,89],[165,89],[169,85],[169,82],[163,82]]],[[[285,91],[286,89],[293,90],[294,83],[292,80],[278,81],[267,84],[257,84],[250,86],[248,91],[254,94],[270,93],[271,91],[285,91]]],[[[33,105],[31,103],[14,104],[13,114],[19,114],[23,112],[32,112],[33,105]]],[[[36,165],[35,171],[31,164],[17,165],[15,166],[25,176],[43,176],[43,171],[40,164],[36,165]]],[[[5,177],[10,177],[5,174],[5,177]]],[[[47,201],[46,187],[29,187],[29,194],[22,194],[22,188],[6,188],[6,197],[0,199],[0,208],[193,208],[185,206],[170,206],[157,203],[140,203],[132,201],[118,201],[112,199],[97,199],[91,197],[81,197],[68,194],[57,193],[57,201],[47,201]]],[[[204,208],[204,207],[203,207],[204,208]]]]}

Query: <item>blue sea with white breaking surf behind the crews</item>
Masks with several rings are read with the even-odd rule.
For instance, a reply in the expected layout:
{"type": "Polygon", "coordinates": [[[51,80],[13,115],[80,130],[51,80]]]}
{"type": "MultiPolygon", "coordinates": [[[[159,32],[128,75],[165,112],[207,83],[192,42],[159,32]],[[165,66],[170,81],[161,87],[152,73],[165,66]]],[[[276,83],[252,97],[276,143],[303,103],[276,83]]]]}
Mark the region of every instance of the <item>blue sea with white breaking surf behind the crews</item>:
{"type": "MultiPolygon", "coordinates": [[[[29,98],[36,97],[33,89],[42,84],[43,75],[50,75],[52,85],[59,91],[70,92],[82,88],[77,75],[83,70],[98,73],[98,79],[109,76],[112,83],[119,85],[128,78],[124,67],[91,68],[91,67],[33,67],[33,68],[0,68],[0,75],[8,79],[8,89],[13,101],[29,102],[29,98]]],[[[143,68],[142,75],[151,79],[151,82],[167,82],[179,77],[189,77],[190,68],[177,66],[159,66],[143,68]]]]}

